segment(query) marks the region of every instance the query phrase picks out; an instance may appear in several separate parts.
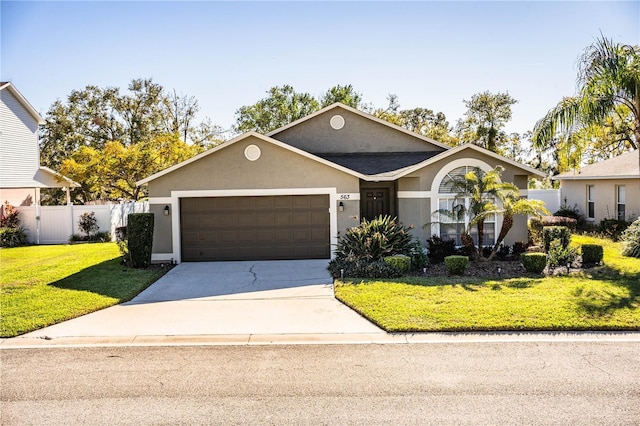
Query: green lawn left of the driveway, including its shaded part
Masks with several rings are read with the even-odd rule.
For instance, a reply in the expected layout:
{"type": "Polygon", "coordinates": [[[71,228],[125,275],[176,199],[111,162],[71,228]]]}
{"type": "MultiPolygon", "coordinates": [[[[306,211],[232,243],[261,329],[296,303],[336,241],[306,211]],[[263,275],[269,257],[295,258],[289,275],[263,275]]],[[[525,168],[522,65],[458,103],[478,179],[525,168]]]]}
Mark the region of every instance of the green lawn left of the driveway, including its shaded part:
{"type": "Polygon", "coordinates": [[[132,299],[163,275],[125,268],[115,243],[0,250],[0,337],[132,299]]]}

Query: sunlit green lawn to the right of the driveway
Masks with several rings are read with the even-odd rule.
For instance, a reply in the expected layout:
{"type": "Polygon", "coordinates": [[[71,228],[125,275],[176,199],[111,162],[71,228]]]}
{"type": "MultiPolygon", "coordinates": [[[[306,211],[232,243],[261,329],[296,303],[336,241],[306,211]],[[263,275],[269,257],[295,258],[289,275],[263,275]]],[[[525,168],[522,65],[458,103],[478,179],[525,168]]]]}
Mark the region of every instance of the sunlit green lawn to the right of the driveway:
{"type": "Polygon", "coordinates": [[[579,275],[336,281],[336,297],[390,332],[639,330],[640,259],[608,240],[604,266],[579,275]]]}

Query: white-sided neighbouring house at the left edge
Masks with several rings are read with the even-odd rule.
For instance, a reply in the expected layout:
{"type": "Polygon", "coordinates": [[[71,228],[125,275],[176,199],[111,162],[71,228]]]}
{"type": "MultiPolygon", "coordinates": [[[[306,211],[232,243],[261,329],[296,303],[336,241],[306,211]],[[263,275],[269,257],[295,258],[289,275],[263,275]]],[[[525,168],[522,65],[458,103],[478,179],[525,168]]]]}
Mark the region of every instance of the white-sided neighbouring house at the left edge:
{"type": "MultiPolygon", "coordinates": [[[[20,92],[0,83],[0,203],[14,206],[40,204],[40,189],[80,186],[40,166],[38,125],[44,120],[20,92]]],[[[67,197],[67,200],[69,197],[67,197]]]]}

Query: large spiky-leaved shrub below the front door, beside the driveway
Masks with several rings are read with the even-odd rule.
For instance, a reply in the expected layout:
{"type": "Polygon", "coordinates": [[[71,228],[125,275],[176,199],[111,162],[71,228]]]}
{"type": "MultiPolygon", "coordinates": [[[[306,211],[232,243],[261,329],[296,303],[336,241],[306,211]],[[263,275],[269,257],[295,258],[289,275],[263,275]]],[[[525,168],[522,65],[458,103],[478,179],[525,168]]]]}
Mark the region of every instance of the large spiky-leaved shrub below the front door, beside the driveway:
{"type": "Polygon", "coordinates": [[[347,230],[338,241],[336,256],[355,256],[367,263],[395,254],[410,255],[413,237],[391,216],[363,219],[359,226],[347,230]]]}

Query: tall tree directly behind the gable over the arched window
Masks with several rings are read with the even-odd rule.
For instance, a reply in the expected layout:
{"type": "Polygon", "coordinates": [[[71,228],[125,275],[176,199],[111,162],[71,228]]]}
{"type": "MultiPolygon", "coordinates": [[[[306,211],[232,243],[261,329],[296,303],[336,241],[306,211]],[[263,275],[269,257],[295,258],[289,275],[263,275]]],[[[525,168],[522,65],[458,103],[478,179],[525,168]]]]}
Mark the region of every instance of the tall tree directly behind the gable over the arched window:
{"type": "Polygon", "coordinates": [[[467,112],[457,124],[460,142],[471,142],[498,152],[507,139],[502,128],[511,120],[511,106],[517,102],[508,93],[493,94],[489,91],[476,93],[471,100],[464,100],[467,112]]]}

